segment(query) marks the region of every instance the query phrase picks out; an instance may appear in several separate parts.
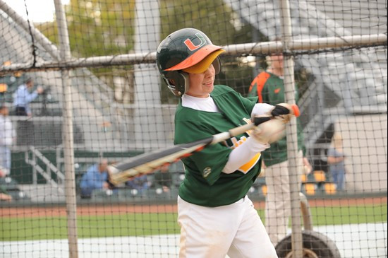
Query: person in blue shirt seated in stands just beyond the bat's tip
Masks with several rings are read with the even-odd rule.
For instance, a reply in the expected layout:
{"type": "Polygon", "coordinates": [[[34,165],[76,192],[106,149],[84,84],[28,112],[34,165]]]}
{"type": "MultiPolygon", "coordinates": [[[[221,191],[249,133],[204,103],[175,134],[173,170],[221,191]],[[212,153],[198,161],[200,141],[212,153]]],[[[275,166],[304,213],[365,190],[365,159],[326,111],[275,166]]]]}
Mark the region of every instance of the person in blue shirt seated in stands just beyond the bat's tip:
{"type": "Polygon", "coordinates": [[[106,159],[87,168],[80,181],[81,197],[90,198],[95,189],[109,189],[108,178],[108,160],[106,159]]]}

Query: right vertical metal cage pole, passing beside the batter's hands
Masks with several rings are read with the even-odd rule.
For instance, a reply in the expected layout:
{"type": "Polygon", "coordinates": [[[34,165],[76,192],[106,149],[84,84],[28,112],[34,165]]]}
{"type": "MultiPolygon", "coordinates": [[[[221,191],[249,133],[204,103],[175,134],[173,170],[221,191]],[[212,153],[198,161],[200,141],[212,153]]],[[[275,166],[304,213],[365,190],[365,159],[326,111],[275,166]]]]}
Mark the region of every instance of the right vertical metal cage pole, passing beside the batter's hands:
{"type": "MultiPolygon", "coordinates": [[[[291,13],[288,0],[279,0],[281,18],[281,43],[284,53],[284,100],[295,104],[295,83],[293,79],[293,56],[289,43],[292,40],[291,13]]],[[[287,124],[287,157],[289,160],[289,184],[291,195],[291,244],[293,258],[303,257],[303,237],[301,229],[301,199],[299,197],[298,168],[298,136],[296,119],[287,124]]]]}

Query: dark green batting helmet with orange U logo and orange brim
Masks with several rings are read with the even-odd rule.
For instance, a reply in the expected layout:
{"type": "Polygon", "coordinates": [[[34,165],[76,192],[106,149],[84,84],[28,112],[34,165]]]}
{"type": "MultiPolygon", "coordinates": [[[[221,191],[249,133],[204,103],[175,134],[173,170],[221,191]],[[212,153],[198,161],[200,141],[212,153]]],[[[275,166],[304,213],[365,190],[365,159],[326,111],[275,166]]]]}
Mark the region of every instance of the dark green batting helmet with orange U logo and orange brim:
{"type": "Polygon", "coordinates": [[[157,48],[157,68],[174,95],[188,91],[188,73],[201,74],[213,64],[216,74],[221,69],[222,47],[194,28],[183,28],[168,35],[157,48]]]}

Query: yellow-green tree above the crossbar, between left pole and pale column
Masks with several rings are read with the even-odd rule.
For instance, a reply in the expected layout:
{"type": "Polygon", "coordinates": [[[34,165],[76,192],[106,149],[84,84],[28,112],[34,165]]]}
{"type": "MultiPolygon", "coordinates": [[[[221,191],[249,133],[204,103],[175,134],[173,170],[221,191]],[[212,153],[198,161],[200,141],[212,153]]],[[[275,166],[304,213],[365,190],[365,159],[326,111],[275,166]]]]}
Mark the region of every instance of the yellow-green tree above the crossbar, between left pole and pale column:
{"type": "Polygon", "coordinates": [[[133,49],[135,0],[71,0],[66,7],[73,54],[93,57],[133,49]]]}

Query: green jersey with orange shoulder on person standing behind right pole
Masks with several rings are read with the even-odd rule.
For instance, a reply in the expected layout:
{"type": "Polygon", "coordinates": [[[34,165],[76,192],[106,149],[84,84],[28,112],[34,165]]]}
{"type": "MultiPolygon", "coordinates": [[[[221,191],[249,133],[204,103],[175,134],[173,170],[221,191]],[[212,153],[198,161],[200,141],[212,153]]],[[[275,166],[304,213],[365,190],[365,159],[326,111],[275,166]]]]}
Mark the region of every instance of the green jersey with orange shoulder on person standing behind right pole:
{"type": "MultiPolygon", "coordinates": [[[[298,90],[295,86],[295,100],[298,102],[298,90]]],[[[252,82],[248,97],[257,96],[258,101],[269,105],[277,105],[284,103],[284,82],[283,79],[274,74],[263,71],[252,82]]],[[[303,133],[301,122],[297,121],[298,130],[298,148],[305,154],[305,146],[303,144],[303,133]]],[[[287,138],[275,143],[271,143],[271,147],[262,152],[262,158],[265,165],[270,166],[281,163],[287,160],[287,138]]]]}

